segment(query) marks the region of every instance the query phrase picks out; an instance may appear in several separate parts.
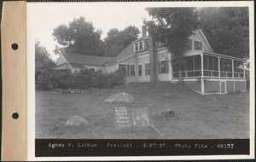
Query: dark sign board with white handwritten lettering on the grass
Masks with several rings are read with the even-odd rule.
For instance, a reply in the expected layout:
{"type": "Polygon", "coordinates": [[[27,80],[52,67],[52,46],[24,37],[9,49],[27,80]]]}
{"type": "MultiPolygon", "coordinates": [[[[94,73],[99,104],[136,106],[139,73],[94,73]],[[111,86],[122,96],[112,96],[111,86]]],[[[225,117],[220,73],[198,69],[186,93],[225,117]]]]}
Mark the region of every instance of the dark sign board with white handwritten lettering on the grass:
{"type": "Polygon", "coordinates": [[[148,130],[150,118],[149,106],[114,106],[115,130],[148,130]]]}

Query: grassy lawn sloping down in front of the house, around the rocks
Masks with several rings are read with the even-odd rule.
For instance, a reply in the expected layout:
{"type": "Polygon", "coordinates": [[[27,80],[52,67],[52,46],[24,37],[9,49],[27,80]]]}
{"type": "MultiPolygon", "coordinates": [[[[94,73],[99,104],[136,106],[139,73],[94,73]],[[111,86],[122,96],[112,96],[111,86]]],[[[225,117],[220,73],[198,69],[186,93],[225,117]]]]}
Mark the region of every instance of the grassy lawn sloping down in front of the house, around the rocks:
{"type": "Polygon", "coordinates": [[[249,92],[200,95],[183,84],[126,84],[111,90],[82,90],[81,94],[36,91],[37,138],[83,139],[220,139],[249,137],[249,92]],[[133,95],[133,105],[152,107],[155,130],[115,131],[113,104],[105,99],[115,93],[133,95]],[[172,109],[175,117],[154,118],[172,109]],[[90,125],[64,126],[79,116],[90,125]]]}

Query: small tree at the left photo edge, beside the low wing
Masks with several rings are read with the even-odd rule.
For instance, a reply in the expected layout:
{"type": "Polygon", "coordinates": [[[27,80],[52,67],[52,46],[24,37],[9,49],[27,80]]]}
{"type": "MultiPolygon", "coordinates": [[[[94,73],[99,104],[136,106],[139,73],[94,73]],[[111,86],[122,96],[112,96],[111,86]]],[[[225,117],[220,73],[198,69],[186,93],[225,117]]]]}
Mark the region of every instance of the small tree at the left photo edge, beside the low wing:
{"type": "Polygon", "coordinates": [[[39,41],[35,43],[35,63],[36,73],[44,69],[55,67],[55,62],[49,58],[48,51],[39,41]]]}

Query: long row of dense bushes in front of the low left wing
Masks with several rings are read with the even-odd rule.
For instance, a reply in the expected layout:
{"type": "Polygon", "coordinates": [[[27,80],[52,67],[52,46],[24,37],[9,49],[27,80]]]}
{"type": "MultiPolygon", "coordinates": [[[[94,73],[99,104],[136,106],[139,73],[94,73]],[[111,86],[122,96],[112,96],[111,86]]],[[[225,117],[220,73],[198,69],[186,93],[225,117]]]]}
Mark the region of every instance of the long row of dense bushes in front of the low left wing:
{"type": "Polygon", "coordinates": [[[125,73],[116,72],[104,73],[102,71],[91,72],[88,69],[72,74],[68,71],[41,72],[38,77],[41,90],[52,89],[111,89],[125,83],[125,73]]]}

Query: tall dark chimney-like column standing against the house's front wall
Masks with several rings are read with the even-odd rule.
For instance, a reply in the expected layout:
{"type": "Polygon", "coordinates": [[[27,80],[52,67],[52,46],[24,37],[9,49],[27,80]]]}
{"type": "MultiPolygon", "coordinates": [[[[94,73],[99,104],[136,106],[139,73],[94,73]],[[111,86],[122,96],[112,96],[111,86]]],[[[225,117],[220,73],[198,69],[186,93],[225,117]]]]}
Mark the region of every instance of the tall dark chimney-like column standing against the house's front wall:
{"type": "MultiPolygon", "coordinates": [[[[154,23],[154,21],[152,21],[151,23],[154,23]]],[[[148,46],[150,62],[150,82],[156,82],[158,80],[157,55],[155,52],[154,27],[152,26],[148,26],[148,46]]]]}

